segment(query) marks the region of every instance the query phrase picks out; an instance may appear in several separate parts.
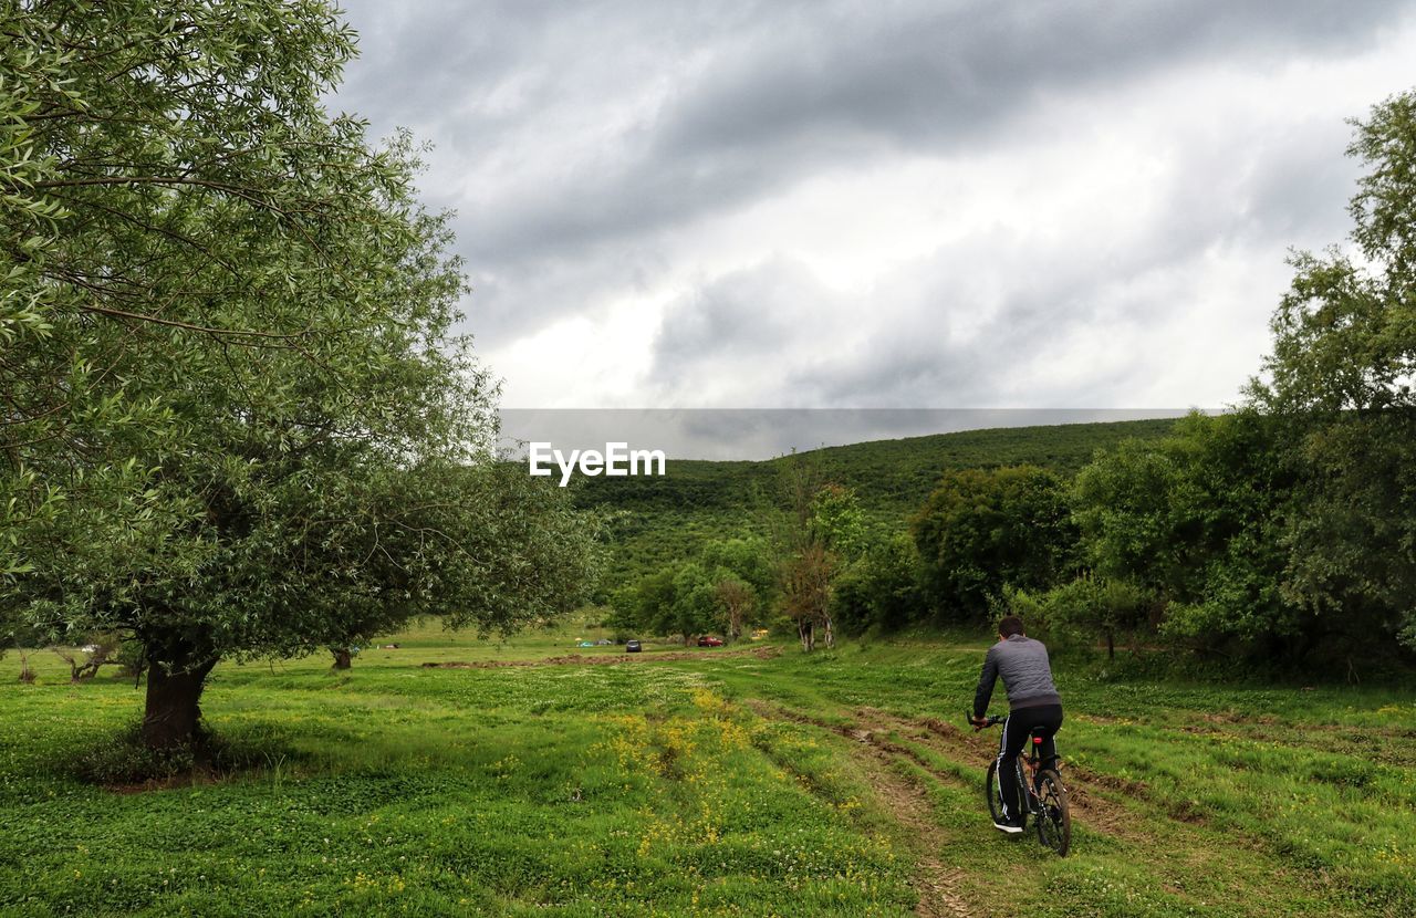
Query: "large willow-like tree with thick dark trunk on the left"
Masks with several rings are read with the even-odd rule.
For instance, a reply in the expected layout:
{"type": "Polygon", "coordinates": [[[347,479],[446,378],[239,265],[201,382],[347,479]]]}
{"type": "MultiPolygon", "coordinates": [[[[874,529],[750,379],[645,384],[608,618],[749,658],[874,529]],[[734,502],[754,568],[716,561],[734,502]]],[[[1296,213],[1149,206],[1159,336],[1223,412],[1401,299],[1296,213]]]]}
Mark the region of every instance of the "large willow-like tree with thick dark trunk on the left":
{"type": "Polygon", "coordinates": [[[585,520],[490,453],[409,139],[321,102],[331,6],[35,1],[0,34],[6,616],[136,636],[166,747],[218,659],[575,601],[585,520]]]}

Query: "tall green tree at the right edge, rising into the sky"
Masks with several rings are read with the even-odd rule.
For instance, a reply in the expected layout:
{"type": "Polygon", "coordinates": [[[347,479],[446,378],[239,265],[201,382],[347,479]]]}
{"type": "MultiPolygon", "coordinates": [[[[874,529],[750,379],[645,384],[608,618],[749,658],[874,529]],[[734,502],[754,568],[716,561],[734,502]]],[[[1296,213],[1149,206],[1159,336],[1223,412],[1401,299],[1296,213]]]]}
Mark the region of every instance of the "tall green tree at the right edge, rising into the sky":
{"type": "Polygon", "coordinates": [[[1266,378],[1303,470],[1284,595],[1348,633],[1416,649],[1416,92],[1354,122],[1355,252],[1294,255],[1266,378]]]}

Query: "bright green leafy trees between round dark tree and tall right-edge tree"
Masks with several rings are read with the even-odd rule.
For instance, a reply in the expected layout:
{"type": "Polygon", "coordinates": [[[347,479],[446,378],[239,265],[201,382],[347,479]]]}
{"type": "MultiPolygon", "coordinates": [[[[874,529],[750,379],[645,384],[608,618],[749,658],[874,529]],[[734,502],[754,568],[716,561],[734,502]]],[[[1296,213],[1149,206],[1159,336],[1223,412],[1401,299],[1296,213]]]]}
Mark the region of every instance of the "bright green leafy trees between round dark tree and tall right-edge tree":
{"type": "Polygon", "coordinates": [[[1296,477],[1280,429],[1252,411],[1194,414],[1174,436],[1124,443],[1078,475],[1086,560],[1103,581],[1153,595],[1164,635],[1291,662],[1314,649],[1321,623],[1279,589],[1296,477]]]}

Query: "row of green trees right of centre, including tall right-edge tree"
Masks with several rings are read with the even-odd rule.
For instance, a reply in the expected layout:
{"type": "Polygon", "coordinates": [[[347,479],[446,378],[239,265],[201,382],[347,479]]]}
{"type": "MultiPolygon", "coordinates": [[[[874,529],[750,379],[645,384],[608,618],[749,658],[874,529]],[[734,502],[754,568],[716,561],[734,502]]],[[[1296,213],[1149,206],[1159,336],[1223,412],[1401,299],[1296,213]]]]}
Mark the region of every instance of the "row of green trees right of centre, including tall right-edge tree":
{"type": "MultiPolygon", "coordinates": [[[[1273,351],[1233,411],[1100,449],[1075,475],[946,472],[905,531],[868,520],[838,477],[804,500],[783,489],[753,520],[765,536],[736,543],[756,545],[772,572],[759,618],[810,618],[831,635],[983,625],[1008,609],[1034,632],[1112,653],[1144,646],[1349,676],[1410,662],[1416,95],[1355,128],[1349,154],[1368,167],[1349,208],[1355,251],[1293,256],[1273,351]],[[851,521],[833,526],[827,507],[847,507],[851,521]]],[[[705,582],[731,570],[678,564],[698,565],[705,582]]],[[[647,578],[616,596],[622,620],[658,626],[649,609],[683,605],[688,579],[654,577],[660,594],[647,578]]],[[[701,609],[694,628],[722,620],[721,602],[701,609]]]]}

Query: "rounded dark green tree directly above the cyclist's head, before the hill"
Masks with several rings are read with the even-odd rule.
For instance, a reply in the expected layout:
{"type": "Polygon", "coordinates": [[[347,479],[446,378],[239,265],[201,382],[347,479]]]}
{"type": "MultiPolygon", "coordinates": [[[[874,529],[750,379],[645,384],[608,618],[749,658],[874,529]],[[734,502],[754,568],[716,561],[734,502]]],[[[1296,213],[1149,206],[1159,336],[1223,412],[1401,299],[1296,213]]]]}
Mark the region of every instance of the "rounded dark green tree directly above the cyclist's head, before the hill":
{"type": "Polygon", "coordinates": [[[1035,466],[946,475],[910,533],[930,598],[953,620],[981,619],[1005,586],[1046,586],[1073,565],[1062,480],[1035,466]]]}

